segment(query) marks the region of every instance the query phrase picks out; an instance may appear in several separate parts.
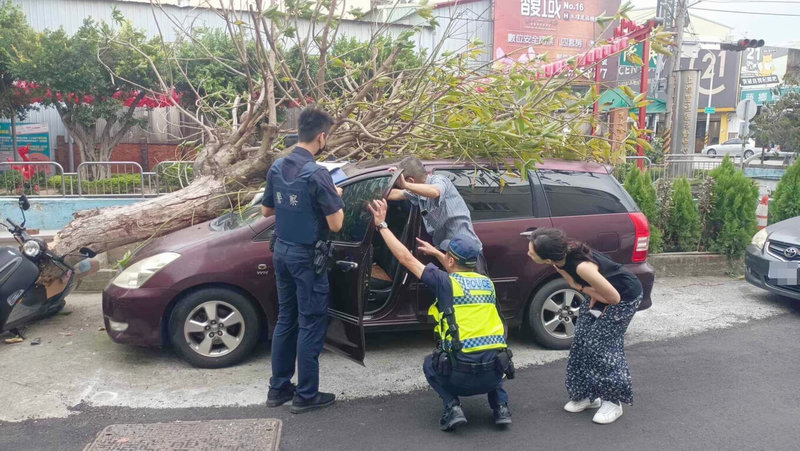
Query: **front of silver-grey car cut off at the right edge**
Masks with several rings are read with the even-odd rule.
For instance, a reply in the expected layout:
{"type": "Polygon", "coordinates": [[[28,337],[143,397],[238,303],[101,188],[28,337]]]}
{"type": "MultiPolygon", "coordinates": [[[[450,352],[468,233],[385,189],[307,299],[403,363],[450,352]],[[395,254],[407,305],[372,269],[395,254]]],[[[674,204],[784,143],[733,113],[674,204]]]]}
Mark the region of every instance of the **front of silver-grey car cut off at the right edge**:
{"type": "Polygon", "coordinates": [[[747,246],[744,262],[748,282],[800,300],[800,216],[756,233],[747,246]]]}

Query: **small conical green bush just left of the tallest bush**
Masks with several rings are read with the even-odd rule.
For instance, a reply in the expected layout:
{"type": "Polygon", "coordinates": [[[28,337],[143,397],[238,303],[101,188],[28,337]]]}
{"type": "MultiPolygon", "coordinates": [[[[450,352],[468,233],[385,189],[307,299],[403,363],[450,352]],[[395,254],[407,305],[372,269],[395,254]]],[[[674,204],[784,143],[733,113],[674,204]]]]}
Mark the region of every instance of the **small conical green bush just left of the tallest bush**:
{"type": "Polygon", "coordinates": [[[675,180],[672,188],[672,202],[664,230],[664,244],[670,251],[695,251],[700,240],[700,213],[694,204],[692,189],[685,178],[675,180]]]}

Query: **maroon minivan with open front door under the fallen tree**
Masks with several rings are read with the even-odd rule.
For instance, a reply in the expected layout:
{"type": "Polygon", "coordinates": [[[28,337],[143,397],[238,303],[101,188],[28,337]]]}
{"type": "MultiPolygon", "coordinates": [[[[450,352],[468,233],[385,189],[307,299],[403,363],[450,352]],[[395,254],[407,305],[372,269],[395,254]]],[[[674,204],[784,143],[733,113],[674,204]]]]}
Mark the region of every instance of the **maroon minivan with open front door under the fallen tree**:
{"type": "MultiPolygon", "coordinates": [[[[551,267],[527,257],[526,235],[537,227],[560,227],[625,263],[644,286],[641,308],[650,306],[655,276],[646,261],[647,219],[609,167],[545,161],[522,177],[505,167],[453,161],[426,166],[449,177],[469,205],[509,327],[522,327],[548,348],[567,349],[572,341],[581,295],[551,267]]],[[[394,185],[397,174],[388,169],[385,161],[347,165],[337,182],[343,188],[345,223],[331,236],[326,345],[360,362],[365,330],[433,327],[428,317],[432,293],[375,235],[365,208],[394,185]],[[377,277],[378,266],[386,280],[377,277]]],[[[409,202],[389,207],[389,227],[409,249],[416,248],[416,237],[430,239],[422,215],[409,202]]],[[[172,345],[200,367],[238,362],[273,330],[277,318],[269,250],[273,226],[274,217],[263,218],[256,201],[241,213],[154,240],[103,293],[108,334],[118,343],[172,345]]]]}

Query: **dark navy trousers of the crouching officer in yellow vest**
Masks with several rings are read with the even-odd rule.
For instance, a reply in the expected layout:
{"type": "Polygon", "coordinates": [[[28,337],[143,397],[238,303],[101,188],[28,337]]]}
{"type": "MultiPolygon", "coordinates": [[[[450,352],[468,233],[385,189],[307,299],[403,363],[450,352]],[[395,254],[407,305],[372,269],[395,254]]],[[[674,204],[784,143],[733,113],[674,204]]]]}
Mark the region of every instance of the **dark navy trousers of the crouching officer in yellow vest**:
{"type": "Polygon", "coordinates": [[[503,389],[503,375],[494,369],[478,374],[453,370],[449,377],[442,377],[433,369],[433,355],[429,355],[425,357],[422,370],[431,388],[442,398],[445,407],[458,403],[459,396],[484,393],[488,396],[489,407],[492,409],[496,409],[500,404],[508,404],[508,393],[503,389]]]}

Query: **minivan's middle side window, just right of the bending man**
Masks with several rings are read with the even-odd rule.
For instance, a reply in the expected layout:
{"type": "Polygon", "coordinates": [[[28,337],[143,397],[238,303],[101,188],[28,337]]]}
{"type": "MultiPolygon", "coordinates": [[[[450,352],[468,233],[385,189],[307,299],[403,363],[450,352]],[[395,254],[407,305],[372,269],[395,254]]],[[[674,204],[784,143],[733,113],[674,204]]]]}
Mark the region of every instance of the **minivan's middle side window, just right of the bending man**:
{"type": "Polygon", "coordinates": [[[486,169],[440,169],[464,198],[473,221],[530,218],[531,185],[517,173],[486,169]]]}

